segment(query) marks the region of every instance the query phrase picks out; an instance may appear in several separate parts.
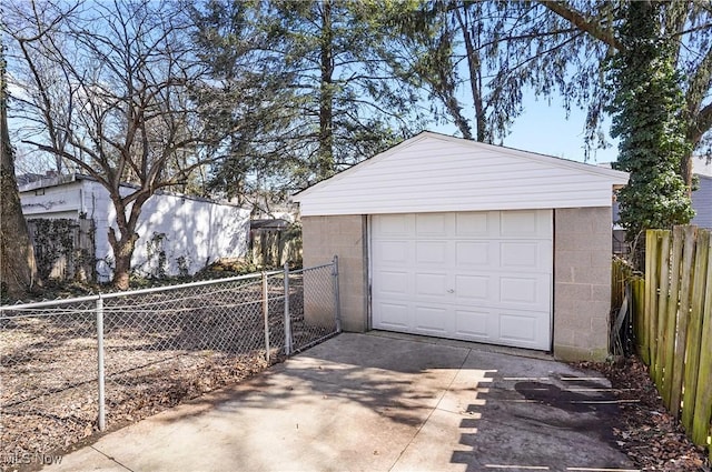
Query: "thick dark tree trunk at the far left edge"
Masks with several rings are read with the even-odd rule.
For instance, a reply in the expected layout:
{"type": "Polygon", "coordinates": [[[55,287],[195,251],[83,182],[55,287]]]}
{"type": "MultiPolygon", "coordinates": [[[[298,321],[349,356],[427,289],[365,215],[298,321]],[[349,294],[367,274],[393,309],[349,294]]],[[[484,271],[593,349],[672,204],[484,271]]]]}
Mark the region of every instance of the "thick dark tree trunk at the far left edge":
{"type": "Polygon", "coordinates": [[[2,295],[17,299],[34,288],[37,265],[14,179],[4,64],[0,49],[0,291],[2,295]]]}

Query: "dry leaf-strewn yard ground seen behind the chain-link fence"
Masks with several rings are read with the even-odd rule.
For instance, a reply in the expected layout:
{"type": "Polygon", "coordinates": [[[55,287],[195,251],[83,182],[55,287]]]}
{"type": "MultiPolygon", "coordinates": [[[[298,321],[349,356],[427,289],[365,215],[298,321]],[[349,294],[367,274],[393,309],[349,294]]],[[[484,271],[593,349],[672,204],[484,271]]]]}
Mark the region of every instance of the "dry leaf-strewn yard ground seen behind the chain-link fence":
{"type": "MultiPolygon", "coordinates": [[[[177,300],[151,294],[107,304],[106,423],[115,429],[238,382],[268,366],[259,288],[177,300]],[[126,303],[126,300],[122,301],[126,303]]],[[[295,284],[296,347],[333,328],[304,322],[295,284]]],[[[284,343],[284,301],[270,300],[271,361],[284,343]]],[[[90,310],[0,320],[0,468],[12,458],[61,451],[98,432],[96,314],[90,310]]],[[[34,466],[38,464],[34,464],[34,466]]],[[[33,464],[29,464],[33,466],[33,464]]]]}

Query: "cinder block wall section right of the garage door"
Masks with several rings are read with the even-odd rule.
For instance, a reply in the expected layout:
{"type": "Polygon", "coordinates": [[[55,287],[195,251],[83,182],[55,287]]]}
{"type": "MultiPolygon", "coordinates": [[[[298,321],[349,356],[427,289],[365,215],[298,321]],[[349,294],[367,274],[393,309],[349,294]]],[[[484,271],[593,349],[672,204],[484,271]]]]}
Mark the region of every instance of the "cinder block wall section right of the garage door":
{"type": "Polygon", "coordinates": [[[554,213],[554,356],[603,360],[611,311],[611,208],[554,213]]]}

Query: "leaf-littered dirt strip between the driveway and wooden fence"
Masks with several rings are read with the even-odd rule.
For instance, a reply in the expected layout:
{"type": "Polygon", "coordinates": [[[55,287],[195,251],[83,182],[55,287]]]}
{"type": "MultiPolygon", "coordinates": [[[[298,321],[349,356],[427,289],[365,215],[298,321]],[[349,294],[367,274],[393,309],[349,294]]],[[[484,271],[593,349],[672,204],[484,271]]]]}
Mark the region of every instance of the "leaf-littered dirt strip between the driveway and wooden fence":
{"type": "Polygon", "coordinates": [[[613,433],[617,446],[644,471],[710,472],[706,452],[690,441],[671,416],[650,380],[647,368],[637,359],[616,363],[582,362],[577,368],[603,373],[620,403],[619,428],[613,433]]]}

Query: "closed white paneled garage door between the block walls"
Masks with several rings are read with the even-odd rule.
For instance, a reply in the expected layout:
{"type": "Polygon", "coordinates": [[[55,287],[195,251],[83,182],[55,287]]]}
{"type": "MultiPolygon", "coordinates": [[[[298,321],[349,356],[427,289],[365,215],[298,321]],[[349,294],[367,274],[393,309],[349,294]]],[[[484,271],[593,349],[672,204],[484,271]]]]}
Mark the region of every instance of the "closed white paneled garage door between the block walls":
{"type": "Polygon", "coordinates": [[[372,217],[378,330],[548,350],[552,211],[372,217]]]}

